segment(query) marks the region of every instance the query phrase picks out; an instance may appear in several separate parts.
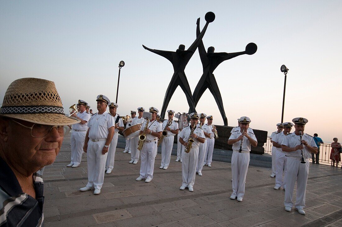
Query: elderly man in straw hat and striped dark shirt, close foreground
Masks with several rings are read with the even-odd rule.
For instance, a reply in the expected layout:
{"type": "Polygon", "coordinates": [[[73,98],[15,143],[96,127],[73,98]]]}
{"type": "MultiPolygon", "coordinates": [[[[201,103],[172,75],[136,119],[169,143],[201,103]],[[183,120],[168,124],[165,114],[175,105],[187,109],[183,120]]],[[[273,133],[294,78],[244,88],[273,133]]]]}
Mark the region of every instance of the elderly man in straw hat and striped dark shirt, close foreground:
{"type": "Polygon", "coordinates": [[[43,222],[44,166],[62,146],[68,125],[52,81],[22,78],[6,90],[0,109],[0,225],[40,226],[43,222]]]}

